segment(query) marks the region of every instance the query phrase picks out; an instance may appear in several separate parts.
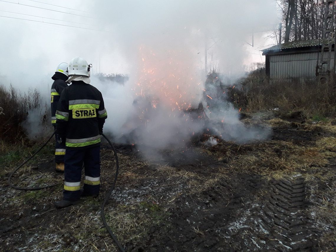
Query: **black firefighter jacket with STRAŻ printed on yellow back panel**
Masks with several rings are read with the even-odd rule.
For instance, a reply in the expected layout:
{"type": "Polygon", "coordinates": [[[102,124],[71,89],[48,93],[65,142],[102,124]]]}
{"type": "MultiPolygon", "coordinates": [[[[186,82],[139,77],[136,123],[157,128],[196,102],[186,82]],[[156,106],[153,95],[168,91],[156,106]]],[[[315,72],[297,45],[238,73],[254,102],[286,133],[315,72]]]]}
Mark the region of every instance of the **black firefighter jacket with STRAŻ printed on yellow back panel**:
{"type": "Polygon", "coordinates": [[[56,132],[67,148],[91,148],[100,144],[107,112],[101,92],[83,81],[66,87],[57,106],[56,132]]]}

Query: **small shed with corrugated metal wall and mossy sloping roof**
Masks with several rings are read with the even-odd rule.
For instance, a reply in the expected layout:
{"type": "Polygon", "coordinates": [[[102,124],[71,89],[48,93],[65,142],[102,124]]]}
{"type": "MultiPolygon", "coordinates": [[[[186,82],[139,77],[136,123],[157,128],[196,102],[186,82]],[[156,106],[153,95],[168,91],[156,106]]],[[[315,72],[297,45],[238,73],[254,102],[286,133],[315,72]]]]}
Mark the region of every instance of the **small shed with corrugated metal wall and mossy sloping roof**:
{"type": "MultiPolygon", "coordinates": [[[[266,74],[270,80],[314,79],[325,41],[295,41],[262,50],[266,56],[266,74]]],[[[329,41],[330,43],[330,41],[329,41]]],[[[330,60],[330,69],[333,66],[330,60]]]]}

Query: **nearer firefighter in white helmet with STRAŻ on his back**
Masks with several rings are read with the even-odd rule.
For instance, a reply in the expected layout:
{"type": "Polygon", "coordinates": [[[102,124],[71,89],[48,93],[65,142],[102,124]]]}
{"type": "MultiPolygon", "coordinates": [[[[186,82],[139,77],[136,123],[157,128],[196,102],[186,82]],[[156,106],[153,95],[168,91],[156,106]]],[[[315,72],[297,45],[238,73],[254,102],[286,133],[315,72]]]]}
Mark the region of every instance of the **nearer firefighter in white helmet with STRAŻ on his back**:
{"type": "Polygon", "coordinates": [[[100,184],[100,134],[107,112],[101,92],[90,85],[90,67],[81,57],[68,66],[71,85],[60,96],[56,111],[58,142],[66,145],[63,200],[56,207],[67,207],[81,196],[98,196],[100,184]],[[81,171],[85,179],[81,189],[81,171]]]}

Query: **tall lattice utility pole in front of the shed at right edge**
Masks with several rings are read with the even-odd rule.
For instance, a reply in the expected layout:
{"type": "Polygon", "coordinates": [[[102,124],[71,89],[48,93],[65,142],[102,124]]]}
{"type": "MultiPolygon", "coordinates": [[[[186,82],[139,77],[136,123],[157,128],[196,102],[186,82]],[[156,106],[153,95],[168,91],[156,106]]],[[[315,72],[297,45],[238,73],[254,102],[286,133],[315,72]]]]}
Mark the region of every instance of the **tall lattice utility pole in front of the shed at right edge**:
{"type": "Polygon", "coordinates": [[[324,9],[323,33],[322,33],[322,49],[320,64],[318,66],[318,81],[328,81],[331,70],[335,73],[335,55],[334,65],[331,68],[331,49],[333,44],[333,37],[335,31],[335,2],[336,0],[327,0],[324,9]]]}

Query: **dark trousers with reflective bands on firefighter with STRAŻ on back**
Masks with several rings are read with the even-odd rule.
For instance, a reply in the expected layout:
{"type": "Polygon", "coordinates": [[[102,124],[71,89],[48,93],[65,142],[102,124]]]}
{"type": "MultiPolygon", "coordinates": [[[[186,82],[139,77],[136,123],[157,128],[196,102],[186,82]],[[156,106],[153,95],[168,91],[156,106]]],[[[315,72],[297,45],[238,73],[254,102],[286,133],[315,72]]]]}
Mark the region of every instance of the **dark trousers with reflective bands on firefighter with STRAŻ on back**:
{"type": "Polygon", "coordinates": [[[64,200],[79,200],[83,164],[85,170],[83,193],[85,195],[99,194],[100,146],[80,150],[67,149],[64,161],[64,200]]]}

